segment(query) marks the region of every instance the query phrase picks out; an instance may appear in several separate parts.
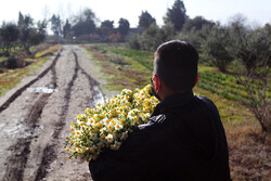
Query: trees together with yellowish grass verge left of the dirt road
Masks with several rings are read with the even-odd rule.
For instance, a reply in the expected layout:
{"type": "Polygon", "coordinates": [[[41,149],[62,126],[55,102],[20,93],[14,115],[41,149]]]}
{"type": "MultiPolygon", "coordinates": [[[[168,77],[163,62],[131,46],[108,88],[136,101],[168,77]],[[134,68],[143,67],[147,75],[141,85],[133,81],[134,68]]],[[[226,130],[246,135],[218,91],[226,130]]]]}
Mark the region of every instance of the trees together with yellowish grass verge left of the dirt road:
{"type": "Polygon", "coordinates": [[[18,13],[17,23],[0,26],[0,95],[39,68],[61,46],[43,43],[48,22],[18,13]]]}

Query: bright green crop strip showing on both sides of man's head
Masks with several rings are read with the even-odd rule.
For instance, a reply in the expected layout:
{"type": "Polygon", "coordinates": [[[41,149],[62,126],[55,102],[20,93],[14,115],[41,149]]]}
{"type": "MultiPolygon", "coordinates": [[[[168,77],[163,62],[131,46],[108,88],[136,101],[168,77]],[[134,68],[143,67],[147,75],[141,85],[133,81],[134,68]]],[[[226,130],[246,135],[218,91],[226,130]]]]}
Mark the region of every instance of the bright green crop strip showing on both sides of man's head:
{"type": "MultiPolygon", "coordinates": [[[[153,54],[149,52],[130,50],[125,48],[105,48],[107,51],[112,51],[116,54],[128,56],[147,69],[153,69],[153,54]]],[[[248,96],[246,89],[238,83],[237,79],[233,75],[227,75],[222,73],[217,73],[214,70],[204,70],[201,72],[199,66],[199,81],[197,87],[210,91],[212,93],[219,94],[228,100],[237,101],[250,104],[250,98],[248,96]]],[[[256,86],[259,86],[258,82],[255,82],[256,86]]],[[[270,92],[270,90],[269,90],[270,92]]]]}

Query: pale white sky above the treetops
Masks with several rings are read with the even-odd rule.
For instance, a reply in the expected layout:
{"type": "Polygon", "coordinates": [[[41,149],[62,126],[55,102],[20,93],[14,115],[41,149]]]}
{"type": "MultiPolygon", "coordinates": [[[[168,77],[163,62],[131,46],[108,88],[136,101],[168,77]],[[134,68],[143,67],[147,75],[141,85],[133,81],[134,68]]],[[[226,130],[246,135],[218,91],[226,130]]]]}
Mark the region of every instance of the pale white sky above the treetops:
{"type": "MultiPolygon", "coordinates": [[[[114,21],[120,17],[138,26],[139,15],[147,11],[163,25],[163,16],[175,0],[1,0],[0,22],[17,21],[18,11],[30,14],[35,21],[49,18],[53,13],[68,18],[85,8],[90,8],[100,21],[114,21]]],[[[271,23],[271,0],[183,0],[190,17],[202,15],[207,20],[220,21],[222,24],[241,13],[249,23],[264,25],[271,23]]]]}

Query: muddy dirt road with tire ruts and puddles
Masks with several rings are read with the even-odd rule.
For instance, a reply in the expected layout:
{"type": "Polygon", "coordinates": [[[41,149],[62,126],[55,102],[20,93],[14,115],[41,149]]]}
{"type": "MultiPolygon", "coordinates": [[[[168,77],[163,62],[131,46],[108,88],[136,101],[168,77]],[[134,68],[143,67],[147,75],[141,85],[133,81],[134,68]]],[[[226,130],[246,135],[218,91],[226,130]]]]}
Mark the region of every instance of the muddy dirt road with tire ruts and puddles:
{"type": "Polygon", "coordinates": [[[78,113],[103,99],[88,54],[64,46],[0,98],[2,181],[91,180],[88,164],[63,148],[78,113]]]}

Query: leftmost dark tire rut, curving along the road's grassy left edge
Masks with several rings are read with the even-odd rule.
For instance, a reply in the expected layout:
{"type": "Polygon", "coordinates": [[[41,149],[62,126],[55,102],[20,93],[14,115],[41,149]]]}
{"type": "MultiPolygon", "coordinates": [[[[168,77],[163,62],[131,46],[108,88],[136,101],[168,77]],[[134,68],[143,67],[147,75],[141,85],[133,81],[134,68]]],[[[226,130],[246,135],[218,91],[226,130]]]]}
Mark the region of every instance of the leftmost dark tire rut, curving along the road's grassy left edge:
{"type": "MultiPolygon", "coordinates": [[[[46,68],[40,75],[38,75],[35,79],[26,83],[24,87],[20,88],[16,92],[14,92],[1,106],[0,106],[0,113],[9,107],[11,103],[13,103],[27,88],[29,88],[31,85],[34,85],[36,81],[38,81],[40,78],[44,77],[49,70],[52,70],[55,66],[59,57],[61,56],[61,53],[63,51],[63,48],[57,52],[56,56],[54,57],[51,65],[46,68]]],[[[56,82],[56,80],[54,80],[56,82]]]]}

